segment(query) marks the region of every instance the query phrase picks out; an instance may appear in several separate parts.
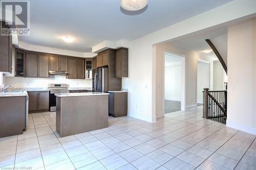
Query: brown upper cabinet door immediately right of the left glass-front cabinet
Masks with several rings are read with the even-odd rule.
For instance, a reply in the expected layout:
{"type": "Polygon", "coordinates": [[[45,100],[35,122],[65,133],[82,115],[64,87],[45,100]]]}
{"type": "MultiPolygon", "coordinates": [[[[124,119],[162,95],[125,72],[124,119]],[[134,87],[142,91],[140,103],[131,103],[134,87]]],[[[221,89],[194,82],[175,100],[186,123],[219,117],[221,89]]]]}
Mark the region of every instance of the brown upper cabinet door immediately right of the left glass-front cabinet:
{"type": "Polygon", "coordinates": [[[37,72],[37,54],[26,54],[26,77],[38,77],[37,72]]]}

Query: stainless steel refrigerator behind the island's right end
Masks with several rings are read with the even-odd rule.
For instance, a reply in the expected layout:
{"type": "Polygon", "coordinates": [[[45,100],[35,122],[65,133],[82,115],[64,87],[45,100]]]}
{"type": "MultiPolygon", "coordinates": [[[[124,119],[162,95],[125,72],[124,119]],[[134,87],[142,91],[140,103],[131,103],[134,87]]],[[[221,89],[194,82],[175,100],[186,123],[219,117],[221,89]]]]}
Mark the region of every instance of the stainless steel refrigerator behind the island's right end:
{"type": "Polygon", "coordinates": [[[97,68],[93,78],[94,92],[108,92],[109,89],[109,69],[106,67],[97,68]]]}

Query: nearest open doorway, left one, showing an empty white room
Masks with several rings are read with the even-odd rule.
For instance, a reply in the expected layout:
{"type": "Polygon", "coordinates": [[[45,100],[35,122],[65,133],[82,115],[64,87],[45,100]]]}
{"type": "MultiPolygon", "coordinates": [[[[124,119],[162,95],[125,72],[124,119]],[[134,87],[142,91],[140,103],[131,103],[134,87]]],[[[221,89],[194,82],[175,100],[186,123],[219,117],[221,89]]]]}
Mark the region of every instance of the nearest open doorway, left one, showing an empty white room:
{"type": "Polygon", "coordinates": [[[185,110],[185,57],[164,56],[164,114],[185,110]]]}

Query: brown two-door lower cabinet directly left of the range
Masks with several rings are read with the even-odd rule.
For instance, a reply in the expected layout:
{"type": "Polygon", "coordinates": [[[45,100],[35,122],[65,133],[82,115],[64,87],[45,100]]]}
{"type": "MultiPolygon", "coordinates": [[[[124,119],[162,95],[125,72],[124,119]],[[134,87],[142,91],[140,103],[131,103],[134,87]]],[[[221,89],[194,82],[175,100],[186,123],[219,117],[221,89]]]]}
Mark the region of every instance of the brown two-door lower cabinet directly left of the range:
{"type": "Polygon", "coordinates": [[[29,112],[49,110],[49,91],[28,91],[29,112]]]}

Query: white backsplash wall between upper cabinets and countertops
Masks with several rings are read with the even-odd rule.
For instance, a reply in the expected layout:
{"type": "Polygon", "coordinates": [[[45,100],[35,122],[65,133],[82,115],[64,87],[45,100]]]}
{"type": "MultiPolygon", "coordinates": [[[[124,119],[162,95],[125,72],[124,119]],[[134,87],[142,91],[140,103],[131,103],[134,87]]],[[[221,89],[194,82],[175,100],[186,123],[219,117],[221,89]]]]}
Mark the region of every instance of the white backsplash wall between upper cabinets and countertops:
{"type": "Polygon", "coordinates": [[[92,80],[66,79],[66,76],[50,76],[45,78],[4,77],[5,85],[14,87],[48,87],[51,83],[69,84],[70,87],[92,87],[92,80]]]}

